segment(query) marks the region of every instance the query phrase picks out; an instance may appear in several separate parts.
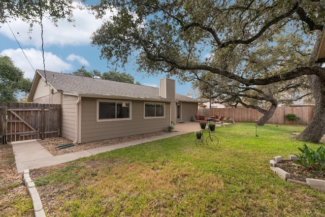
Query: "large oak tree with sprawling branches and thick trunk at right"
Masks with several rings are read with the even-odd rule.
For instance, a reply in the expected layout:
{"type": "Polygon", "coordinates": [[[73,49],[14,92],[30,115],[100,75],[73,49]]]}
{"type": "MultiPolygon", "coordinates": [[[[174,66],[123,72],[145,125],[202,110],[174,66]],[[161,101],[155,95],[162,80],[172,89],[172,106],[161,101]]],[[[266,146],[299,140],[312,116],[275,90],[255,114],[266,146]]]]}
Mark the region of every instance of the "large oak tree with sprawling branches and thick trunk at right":
{"type": "MultiPolygon", "coordinates": [[[[271,47],[276,36],[301,35],[316,42],[325,21],[323,1],[107,0],[93,9],[103,12],[111,6],[118,12],[96,30],[92,45],[99,46],[112,64],[135,59],[140,71],[169,72],[179,78],[208,71],[243,86],[308,75],[316,108],[299,138],[319,142],[325,132],[325,70],[305,64],[266,74],[250,66],[251,53],[259,46],[271,47]]],[[[282,54],[284,60],[296,58],[290,54],[282,54]]]]}

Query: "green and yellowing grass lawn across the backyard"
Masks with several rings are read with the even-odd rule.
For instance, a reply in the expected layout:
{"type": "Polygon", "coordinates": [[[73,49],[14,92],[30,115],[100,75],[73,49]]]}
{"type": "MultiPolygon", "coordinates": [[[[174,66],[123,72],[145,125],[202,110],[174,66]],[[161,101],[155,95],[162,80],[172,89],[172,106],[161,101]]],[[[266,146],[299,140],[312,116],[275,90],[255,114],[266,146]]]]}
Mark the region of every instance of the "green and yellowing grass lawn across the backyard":
{"type": "Polygon", "coordinates": [[[298,153],[304,142],[289,133],[303,129],[266,125],[256,137],[254,124],[236,123],[216,128],[215,147],[189,133],[31,176],[49,216],[324,216],[324,193],[269,168],[274,156],[298,153]]]}

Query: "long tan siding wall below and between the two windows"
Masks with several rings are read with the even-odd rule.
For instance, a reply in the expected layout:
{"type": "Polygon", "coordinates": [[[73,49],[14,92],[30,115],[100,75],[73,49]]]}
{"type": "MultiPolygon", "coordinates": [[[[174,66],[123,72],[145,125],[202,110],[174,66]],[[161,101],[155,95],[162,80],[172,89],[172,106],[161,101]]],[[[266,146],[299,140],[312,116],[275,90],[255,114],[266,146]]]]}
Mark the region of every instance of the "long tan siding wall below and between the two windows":
{"type": "Polygon", "coordinates": [[[82,98],[81,141],[79,142],[167,130],[170,119],[169,103],[166,103],[165,118],[144,119],[143,107],[143,101],[132,101],[132,120],[96,122],[96,99],[82,98]]]}

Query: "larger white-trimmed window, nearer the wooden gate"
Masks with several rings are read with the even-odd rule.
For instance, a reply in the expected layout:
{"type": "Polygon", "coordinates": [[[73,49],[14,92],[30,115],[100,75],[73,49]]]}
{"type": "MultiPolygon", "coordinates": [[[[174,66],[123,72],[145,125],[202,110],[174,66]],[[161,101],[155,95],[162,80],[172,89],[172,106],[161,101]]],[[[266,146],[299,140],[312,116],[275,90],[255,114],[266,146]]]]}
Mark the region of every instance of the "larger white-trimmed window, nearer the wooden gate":
{"type": "Polygon", "coordinates": [[[131,120],[131,102],[97,100],[97,121],[131,120]]]}

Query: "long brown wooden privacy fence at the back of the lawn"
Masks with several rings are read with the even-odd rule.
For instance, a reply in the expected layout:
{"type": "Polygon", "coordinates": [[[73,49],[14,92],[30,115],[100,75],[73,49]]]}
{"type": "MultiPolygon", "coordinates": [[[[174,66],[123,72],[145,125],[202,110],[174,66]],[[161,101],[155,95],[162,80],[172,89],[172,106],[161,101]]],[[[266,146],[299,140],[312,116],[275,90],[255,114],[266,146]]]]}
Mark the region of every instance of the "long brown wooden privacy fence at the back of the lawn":
{"type": "MultiPolygon", "coordinates": [[[[278,124],[299,124],[308,125],[311,118],[313,117],[315,106],[288,106],[276,108],[273,116],[267,123],[278,123],[278,124]],[[284,115],[296,114],[300,117],[300,120],[288,120],[284,115]]],[[[269,109],[269,108],[264,108],[269,109]]],[[[199,109],[199,114],[203,114],[206,117],[211,115],[223,115],[224,118],[231,117],[235,122],[255,122],[263,116],[261,112],[256,109],[250,108],[210,108],[210,109],[199,109]]]]}

